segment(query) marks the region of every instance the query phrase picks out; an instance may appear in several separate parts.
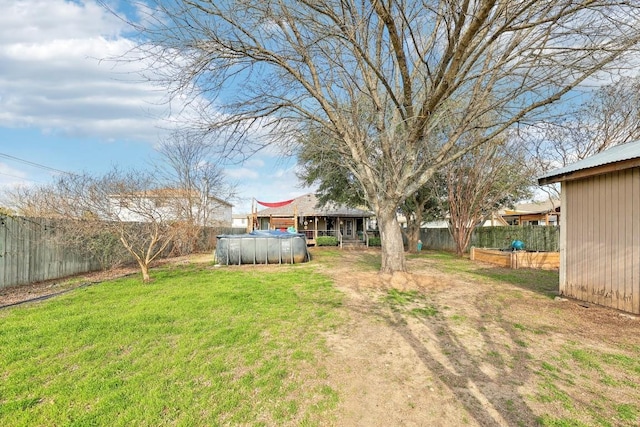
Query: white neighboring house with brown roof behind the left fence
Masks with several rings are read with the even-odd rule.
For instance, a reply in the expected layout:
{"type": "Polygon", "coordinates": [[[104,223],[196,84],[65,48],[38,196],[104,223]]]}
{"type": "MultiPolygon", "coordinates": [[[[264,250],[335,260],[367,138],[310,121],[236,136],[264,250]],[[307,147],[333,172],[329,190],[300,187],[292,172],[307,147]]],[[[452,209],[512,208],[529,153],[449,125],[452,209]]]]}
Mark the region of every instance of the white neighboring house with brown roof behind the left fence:
{"type": "Polygon", "coordinates": [[[216,197],[163,188],[134,194],[115,194],[110,201],[122,221],[145,222],[149,216],[162,221],[180,221],[190,216],[197,225],[230,227],[233,206],[216,197]]]}

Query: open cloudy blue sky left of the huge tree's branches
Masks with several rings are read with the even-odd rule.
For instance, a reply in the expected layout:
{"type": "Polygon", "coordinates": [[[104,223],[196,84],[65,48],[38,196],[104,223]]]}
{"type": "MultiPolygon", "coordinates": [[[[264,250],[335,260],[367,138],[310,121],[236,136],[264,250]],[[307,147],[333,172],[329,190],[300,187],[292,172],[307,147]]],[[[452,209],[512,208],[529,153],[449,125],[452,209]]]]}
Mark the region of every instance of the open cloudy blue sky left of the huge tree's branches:
{"type": "MultiPolygon", "coordinates": [[[[110,0],[135,19],[124,0],[110,0]]],[[[147,167],[166,136],[169,111],[137,67],[109,58],[134,46],[129,28],[95,0],[0,0],[0,191],[46,184],[61,172],[100,175],[147,167]]],[[[295,159],[277,152],[230,165],[238,183],[233,213],[251,201],[288,200],[301,187],[295,159]]]]}

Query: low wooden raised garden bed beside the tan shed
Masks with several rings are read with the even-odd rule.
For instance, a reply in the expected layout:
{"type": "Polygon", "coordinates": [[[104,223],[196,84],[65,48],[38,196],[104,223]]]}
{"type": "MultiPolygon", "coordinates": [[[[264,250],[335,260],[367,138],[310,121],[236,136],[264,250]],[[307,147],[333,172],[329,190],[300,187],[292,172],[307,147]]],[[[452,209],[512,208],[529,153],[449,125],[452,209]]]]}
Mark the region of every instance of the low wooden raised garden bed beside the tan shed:
{"type": "Polygon", "coordinates": [[[471,248],[471,259],[506,268],[560,268],[560,252],[502,251],[500,249],[471,248]]]}

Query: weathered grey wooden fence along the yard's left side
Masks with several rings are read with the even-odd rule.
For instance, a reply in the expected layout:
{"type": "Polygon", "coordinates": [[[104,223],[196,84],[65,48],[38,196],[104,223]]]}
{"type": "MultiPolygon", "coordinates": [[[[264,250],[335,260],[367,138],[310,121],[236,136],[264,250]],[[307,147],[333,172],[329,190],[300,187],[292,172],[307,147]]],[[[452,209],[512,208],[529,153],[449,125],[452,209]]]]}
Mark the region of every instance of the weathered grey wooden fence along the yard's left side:
{"type": "MultiPolygon", "coordinates": [[[[101,262],[88,250],[83,250],[82,243],[73,247],[62,244],[65,241],[61,238],[63,228],[51,219],[0,215],[0,289],[110,267],[105,265],[104,259],[101,262]]],[[[206,227],[199,236],[197,247],[187,250],[212,250],[218,234],[233,232],[231,228],[206,227]]],[[[117,242],[117,238],[115,240],[117,242]]],[[[117,250],[123,251],[119,243],[116,246],[117,250]]],[[[167,248],[165,255],[177,254],[182,246],[175,242],[167,248]]],[[[125,257],[132,261],[126,253],[125,257]]]]}

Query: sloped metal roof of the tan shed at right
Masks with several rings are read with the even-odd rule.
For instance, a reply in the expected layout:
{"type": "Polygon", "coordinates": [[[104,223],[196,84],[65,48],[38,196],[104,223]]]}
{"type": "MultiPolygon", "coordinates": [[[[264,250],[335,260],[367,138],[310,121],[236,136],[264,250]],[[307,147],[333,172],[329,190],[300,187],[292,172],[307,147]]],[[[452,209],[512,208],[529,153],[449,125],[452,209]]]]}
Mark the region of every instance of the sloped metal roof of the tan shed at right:
{"type": "Polygon", "coordinates": [[[640,165],[640,141],[629,142],[627,144],[616,145],[569,166],[547,172],[538,178],[538,184],[551,184],[554,182],[593,175],[586,173],[590,169],[598,168],[602,170],[602,173],[606,173],[638,165],[640,165]],[[613,167],[616,164],[619,164],[619,167],[613,167]],[[612,167],[605,168],[605,166],[612,167]]]}

